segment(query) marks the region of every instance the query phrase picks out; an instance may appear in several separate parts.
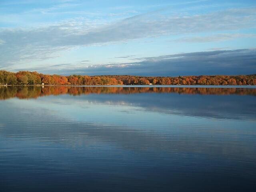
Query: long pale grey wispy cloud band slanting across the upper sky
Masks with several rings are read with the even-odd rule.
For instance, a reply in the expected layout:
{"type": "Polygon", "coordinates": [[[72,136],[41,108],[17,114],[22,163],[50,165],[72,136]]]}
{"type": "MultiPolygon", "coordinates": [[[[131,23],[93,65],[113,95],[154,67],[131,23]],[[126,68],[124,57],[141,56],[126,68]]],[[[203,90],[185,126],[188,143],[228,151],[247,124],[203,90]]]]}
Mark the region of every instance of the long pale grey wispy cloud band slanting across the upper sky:
{"type": "MultiPolygon", "coordinates": [[[[77,46],[110,44],[167,34],[240,30],[255,26],[256,8],[242,8],[191,16],[168,16],[160,12],[140,14],[100,26],[88,20],[70,20],[30,29],[2,28],[0,37],[5,43],[0,46],[0,58],[4,66],[10,66],[14,63],[55,58],[63,51],[77,46]]],[[[225,38],[228,37],[222,36],[222,39],[225,38]]],[[[197,41],[209,39],[201,38],[197,41]]]]}

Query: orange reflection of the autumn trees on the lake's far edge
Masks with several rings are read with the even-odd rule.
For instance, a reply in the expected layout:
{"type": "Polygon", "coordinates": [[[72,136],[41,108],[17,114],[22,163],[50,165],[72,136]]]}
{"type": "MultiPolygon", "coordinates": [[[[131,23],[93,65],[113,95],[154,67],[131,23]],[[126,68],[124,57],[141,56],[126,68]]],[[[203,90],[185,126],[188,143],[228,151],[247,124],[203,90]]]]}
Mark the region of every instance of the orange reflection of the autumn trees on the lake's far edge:
{"type": "Polygon", "coordinates": [[[136,94],[136,93],[177,93],[202,95],[252,95],[250,88],[194,88],[194,87],[76,87],[76,86],[0,86],[0,100],[8,98],[38,98],[48,95],[70,94],[136,94]]]}

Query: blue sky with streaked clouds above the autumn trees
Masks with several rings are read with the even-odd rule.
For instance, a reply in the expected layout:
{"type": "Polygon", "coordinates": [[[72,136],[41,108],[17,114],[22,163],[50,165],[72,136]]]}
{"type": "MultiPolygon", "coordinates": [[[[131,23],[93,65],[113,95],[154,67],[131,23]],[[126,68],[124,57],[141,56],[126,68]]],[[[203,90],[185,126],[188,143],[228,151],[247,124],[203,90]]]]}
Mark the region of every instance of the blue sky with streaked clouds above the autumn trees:
{"type": "Polygon", "coordinates": [[[0,0],[0,70],[256,74],[256,1],[0,0]]]}

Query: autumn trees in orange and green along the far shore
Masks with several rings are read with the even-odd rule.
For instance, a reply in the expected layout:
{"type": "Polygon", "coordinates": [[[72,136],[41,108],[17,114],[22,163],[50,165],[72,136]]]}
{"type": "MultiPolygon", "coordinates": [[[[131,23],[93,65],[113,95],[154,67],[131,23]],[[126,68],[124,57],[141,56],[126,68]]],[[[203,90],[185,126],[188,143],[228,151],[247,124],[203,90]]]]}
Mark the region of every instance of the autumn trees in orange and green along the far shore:
{"type": "Polygon", "coordinates": [[[0,70],[0,84],[8,85],[256,85],[253,75],[214,75],[178,77],[142,77],[130,75],[47,75],[38,72],[17,73],[0,70]]]}

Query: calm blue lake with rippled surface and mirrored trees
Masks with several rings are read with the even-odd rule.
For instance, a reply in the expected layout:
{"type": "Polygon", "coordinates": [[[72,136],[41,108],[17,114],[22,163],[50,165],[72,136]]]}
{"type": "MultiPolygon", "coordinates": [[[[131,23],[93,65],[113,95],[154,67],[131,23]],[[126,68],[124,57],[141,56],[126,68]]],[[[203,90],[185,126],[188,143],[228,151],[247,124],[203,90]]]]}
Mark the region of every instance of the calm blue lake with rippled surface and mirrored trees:
{"type": "Polygon", "coordinates": [[[256,191],[256,87],[0,86],[0,190],[256,191]]]}

